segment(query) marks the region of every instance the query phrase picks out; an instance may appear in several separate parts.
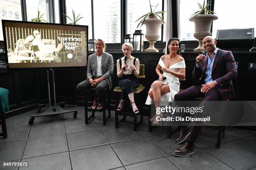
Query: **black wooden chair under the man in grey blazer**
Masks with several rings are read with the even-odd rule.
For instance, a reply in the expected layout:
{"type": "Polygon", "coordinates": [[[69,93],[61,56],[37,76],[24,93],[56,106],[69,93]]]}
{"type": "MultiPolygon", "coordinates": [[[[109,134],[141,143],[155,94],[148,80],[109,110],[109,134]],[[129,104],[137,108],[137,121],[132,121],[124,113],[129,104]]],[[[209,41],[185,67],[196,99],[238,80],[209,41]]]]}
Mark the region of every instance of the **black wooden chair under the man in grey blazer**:
{"type": "MultiPolygon", "coordinates": [[[[91,88],[90,90],[96,90],[95,88],[91,88]]],[[[106,121],[108,120],[108,118],[111,117],[111,108],[110,108],[110,90],[109,88],[107,88],[104,92],[103,95],[103,100],[102,100],[102,112],[103,112],[103,125],[106,125],[106,121]],[[106,117],[106,109],[107,109],[107,104],[106,104],[106,93],[108,93],[108,116],[106,117]]],[[[92,117],[95,117],[95,112],[94,110],[92,110],[92,115],[90,115],[90,117],[88,117],[88,110],[92,110],[91,108],[88,108],[88,103],[87,103],[87,97],[84,97],[84,115],[85,115],[85,124],[88,124],[89,120],[92,117]]]]}

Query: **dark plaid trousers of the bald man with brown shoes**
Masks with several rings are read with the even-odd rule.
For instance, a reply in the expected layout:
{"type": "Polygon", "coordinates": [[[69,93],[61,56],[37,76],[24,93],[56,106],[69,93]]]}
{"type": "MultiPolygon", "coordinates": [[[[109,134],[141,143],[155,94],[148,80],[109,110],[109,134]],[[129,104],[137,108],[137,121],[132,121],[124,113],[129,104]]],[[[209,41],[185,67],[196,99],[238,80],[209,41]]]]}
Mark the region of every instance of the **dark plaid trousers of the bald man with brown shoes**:
{"type": "MultiPolygon", "coordinates": [[[[213,88],[209,90],[208,92],[202,93],[201,92],[201,85],[194,85],[192,87],[187,88],[186,90],[183,90],[182,92],[177,93],[174,96],[175,101],[188,101],[195,99],[196,97],[204,96],[204,100],[201,102],[200,105],[204,105],[204,101],[219,101],[223,100],[220,92],[217,90],[217,88],[213,88]]],[[[181,127],[184,128],[184,127],[181,127]]],[[[190,143],[195,143],[197,140],[197,137],[199,136],[202,126],[192,126],[192,133],[189,138],[190,143]]]]}

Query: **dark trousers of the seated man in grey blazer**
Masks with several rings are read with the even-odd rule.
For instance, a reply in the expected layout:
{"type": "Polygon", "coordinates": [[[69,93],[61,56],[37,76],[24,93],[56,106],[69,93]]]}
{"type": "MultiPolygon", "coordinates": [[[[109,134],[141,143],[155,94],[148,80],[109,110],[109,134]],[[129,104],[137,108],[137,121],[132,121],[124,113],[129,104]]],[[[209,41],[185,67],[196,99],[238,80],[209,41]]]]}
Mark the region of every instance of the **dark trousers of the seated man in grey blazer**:
{"type": "Polygon", "coordinates": [[[102,80],[99,84],[97,84],[96,87],[94,87],[96,89],[96,93],[92,92],[91,94],[90,88],[93,87],[91,86],[89,80],[84,80],[77,85],[77,91],[85,95],[89,100],[93,100],[95,97],[97,97],[98,101],[101,102],[104,95],[104,90],[108,88],[108,81],[102,80]]]}

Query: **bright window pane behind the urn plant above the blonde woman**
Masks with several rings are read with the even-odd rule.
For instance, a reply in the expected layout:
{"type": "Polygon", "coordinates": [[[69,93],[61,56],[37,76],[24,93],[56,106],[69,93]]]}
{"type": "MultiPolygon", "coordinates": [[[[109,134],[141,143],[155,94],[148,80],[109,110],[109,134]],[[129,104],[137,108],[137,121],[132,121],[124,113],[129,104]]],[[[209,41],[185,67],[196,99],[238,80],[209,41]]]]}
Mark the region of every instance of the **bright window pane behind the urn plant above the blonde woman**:
{"type": "MultiPolygon", "coordinates": [[[[162,0],[151,0],[151,5],[154,7],[152,10],[155,9],[155,12],[162,10],[162,0]]],[[[137,28],[139,21],[135,23],[138,18],[142,15],[150,12],[149,0],[127,0],[127,34],[133,34],[135,30],[142,30],[143,34],[146,34],[146,25],[143,25],[141,28],[140,26],[137,28]]],[[[160,38],[161,40],[161,29],[159,29],[160,38]]],[[[144,39],[146,40],[146,39],[144,39]]]]}

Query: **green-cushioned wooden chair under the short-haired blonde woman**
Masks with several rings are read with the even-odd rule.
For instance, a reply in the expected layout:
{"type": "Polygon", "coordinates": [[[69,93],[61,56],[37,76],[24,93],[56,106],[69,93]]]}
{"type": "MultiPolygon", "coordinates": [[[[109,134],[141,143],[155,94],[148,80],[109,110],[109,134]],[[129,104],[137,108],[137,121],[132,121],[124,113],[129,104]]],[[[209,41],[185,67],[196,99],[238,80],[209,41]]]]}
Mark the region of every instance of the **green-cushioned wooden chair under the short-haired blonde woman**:
{"type": "MultiPolygon", "coordinates": [[[[141,80],[142,84],[143,84],[143,78],[145,78],[145,74],[144,74],[144,65],[140,65],[140,73],[138,75],[138,79],[141,80]]],[[[116,95],[116,107],[115,107],[115,128],[118,128],[120,123],[122,123],[123,121],[126,120],[126,116],[130,116],[130,117],[133,117],[133,123],[134,123],[134,128],[133,130],[136,131],[137,130],[137,127],[138,125],[140,125],[142,122],[143,122],[143,114],[142,114],[142,101],[139,101],[138,100],[138,94],[140,92],[142,92],[144,89],[145,89],[145,86],[143,86],[142,84],[139,84],[139,86],[137,88],[134,89],[134,100],[136,101],[136,105],[138,107],[138,110],[140,110],[140,121],[137,122],[137,115],[134,115],[132,110],[128,110],[125,108],[125,105],[123,105],[123,111],[122,112],[117,112],[116,109],[118,107],[118,104],[120,102],[120,96],[119,95],[116,95]],[[118,98],[119,97],[119,98],[118,98]],[[123,118],[118,121],[118,115],[123,115],[123,118]]],[[[122,88],[121,87],[115,87],[114,89],[114,92],[118,92],[118,93],[121,93],[122,92],[122,88]]],[[[126,100],[127,101],[127,100],[126,100]]]]}

